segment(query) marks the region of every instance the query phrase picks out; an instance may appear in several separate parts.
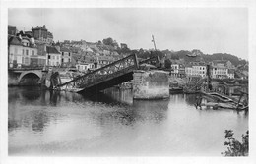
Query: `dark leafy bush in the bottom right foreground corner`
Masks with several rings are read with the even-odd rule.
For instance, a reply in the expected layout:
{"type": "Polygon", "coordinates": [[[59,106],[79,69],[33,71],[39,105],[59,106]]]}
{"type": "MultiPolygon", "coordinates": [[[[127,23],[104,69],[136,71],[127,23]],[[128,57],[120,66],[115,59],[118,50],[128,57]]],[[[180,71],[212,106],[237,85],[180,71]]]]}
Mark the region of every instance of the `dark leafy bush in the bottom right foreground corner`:
{"type": "Polygon", "coordinates": [[[224,156],[248,156],[249,153],[249,131],[242,135],[242,141],[238,141],[233,137],[232,130],[225,130],[224,145],[227,146],[227,151],[224,151],[224,156]]]}

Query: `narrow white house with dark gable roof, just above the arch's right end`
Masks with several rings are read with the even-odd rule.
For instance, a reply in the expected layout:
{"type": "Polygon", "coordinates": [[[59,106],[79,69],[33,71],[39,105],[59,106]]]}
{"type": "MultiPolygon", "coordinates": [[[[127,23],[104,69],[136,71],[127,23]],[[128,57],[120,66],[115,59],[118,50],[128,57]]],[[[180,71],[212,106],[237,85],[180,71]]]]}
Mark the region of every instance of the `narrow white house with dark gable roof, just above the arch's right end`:
{"type": "Polygon", "coordinates": [[[61,54],[54,46],[46,46],[46,65],[61,66],[61,54]]]}

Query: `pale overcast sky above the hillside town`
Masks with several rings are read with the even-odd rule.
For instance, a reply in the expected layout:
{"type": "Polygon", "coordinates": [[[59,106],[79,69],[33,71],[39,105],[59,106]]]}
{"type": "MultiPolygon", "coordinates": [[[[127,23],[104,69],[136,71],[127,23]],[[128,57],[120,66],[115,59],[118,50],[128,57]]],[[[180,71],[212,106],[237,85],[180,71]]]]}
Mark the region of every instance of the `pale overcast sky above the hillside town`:
{"type": "Polygon", "coordinates": [[[54,41],[111,37],[131,49],[229,53],[248,59],[246,8],[11,8],[8,25],[43,26],[54,41]]]}

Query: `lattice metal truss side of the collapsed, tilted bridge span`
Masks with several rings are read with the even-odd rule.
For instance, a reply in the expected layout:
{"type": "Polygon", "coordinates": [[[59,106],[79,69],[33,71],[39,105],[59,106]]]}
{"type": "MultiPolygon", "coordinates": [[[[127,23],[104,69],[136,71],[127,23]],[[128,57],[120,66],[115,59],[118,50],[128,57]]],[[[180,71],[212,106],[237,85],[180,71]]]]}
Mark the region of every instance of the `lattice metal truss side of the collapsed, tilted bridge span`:
{"type": "Polygon", "coordinates": [[[106,81],[109,78],[117,77],[129,71],[139,68],[137,56],[135,54],[129,55],[121,60],[117,60],[109,65],[103,66],[92,72],[89,72],[81,77],[77,77],[72,81],[60,83],[56,88],[76,87],[84,88],[94,85],[98,82],[106,81]]]}

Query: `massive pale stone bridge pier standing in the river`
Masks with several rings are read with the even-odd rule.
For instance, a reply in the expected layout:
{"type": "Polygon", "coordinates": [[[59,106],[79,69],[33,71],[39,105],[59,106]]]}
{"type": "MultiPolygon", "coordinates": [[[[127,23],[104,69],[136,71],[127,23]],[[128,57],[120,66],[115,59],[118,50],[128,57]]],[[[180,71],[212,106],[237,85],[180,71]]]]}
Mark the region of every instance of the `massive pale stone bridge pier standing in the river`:
{"type": "Polygon", "coordinates": [[[169,97],[168,72],[135,71],[133,74],[134,99],[161,99],[169,97]]]}

